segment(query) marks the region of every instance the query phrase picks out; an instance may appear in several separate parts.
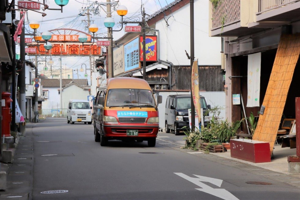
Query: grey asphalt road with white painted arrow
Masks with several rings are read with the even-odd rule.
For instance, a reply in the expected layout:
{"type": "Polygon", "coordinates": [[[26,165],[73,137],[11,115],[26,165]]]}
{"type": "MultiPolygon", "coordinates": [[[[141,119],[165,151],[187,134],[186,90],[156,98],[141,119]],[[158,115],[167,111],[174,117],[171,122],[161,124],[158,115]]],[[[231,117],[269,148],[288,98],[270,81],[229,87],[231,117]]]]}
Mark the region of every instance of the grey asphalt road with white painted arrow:
{"type": "Polygon", "coordinates": [[[33,199],[300,199],[296,187],[181,150],[184,135],[103,147],[93,131],[66,118],[33,126],[33,199]],[[57,190],[67,192],[41,194],[57,190]]]}

